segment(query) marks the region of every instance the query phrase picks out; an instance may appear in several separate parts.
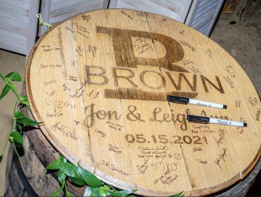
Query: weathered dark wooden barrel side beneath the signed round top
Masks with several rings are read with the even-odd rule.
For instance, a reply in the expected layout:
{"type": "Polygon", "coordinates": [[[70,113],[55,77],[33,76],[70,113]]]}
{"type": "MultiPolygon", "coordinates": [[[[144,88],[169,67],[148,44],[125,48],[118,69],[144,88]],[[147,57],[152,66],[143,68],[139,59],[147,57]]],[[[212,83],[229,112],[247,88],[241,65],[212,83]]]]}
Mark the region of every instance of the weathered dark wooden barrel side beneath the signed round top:
{"type": "MultiPolygon", "coordinates": [[[[22,94],[25,94],[23,88],[22,94]]],[[[21,111],[30,118],[31,112],[23,107],[21,111]]],[[[45,167],[57,157],[57,151],[48,142],[39,129],[27,128],[23,136],[23,149],[19,159],[12,147],[9,147],[5,172],[5,197],[50,196],[59,188],[55,173],[46,173],[45,167]]],[[[211,196],[238,197],[246,196],[261,169],[261,160],[241,181],[211,196]]],[[[83,196],[86,187],[76,187],[67,181],[68,190],[75,196],[83,196]]],[[[63,193],[61,193],[61,196],[63,193]]]]}

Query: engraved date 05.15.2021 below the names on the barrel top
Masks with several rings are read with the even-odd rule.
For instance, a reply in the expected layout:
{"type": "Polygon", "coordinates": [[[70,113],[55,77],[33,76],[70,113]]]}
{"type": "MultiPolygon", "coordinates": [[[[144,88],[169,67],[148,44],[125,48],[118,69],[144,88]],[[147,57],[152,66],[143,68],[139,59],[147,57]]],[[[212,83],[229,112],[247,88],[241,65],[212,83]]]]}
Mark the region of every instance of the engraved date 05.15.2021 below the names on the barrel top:
{"type": "MultiPolygon", "coordinates": [[[[174,135],[171,137],[167,137],[167,135],[151,135],[150,139],[153,143],[173,143],[173,144],[208,144],[208,140],[206,136],[202,137],[203,140],[201,141],[201,137],[195,135],[195,136],[188,136],[188,135],[183,135],[182,137],[179,135],[174,135]]],[[[126,141],[128,141],[129,143],[132,142],[138,142],[138,143],[150,143],[150,139],[146,139],[144,137],[143,134],[136,134],[136,136],[132,135],[132,134],[126,134],[125,135],[125,139],[126,141]]]]}

